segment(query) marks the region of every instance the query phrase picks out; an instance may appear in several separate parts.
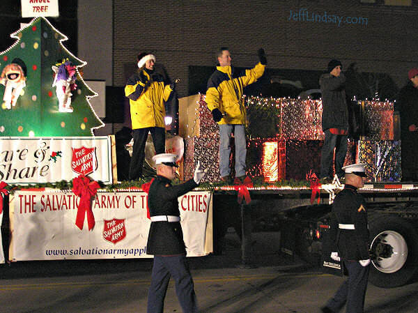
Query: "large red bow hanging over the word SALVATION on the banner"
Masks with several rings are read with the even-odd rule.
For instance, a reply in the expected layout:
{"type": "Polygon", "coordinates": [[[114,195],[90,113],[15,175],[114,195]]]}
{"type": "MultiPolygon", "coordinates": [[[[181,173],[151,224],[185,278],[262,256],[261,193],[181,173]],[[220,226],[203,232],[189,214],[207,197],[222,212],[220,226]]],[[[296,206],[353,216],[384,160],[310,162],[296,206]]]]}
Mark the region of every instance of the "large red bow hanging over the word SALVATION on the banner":
{"type": "Polygon", "coordinates": [[[84,175],[80,175],[72,180],[72,192],[80,197],[75,224],[79,229],[83,229],[84,216],[87,213],[88,230],[93,229],[95,221],[93,211],[91,210],[91,198],[98,192],[100,185],[97,181],[90,181],[84,175]]]}

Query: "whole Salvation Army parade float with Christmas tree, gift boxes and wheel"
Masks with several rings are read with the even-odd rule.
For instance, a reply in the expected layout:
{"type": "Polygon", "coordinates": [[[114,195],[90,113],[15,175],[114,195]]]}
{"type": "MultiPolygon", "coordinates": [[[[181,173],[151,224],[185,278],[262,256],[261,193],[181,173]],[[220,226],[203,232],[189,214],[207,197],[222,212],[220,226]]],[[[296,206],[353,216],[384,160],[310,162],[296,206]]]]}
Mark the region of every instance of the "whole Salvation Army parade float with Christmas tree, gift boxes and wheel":
{"type": "MultiPolygon", "coordinates": [[[[89,104],[95,92],[79,71],[86,63],[65,49],[66,37],[44,17],[12,37],[15,44],[0,54],[0,211],[7,235],[1,261],[148,257],[149,183],[118,183],[114,137],[93,136],[102,122],[89,104]]],[[[316,229],[315,218],[323,221],[320,214],[330,211],[343,188],[338,179],[321,185],[317,176],[322,102],[251,96],[245,105],[251,179],[226,185],[219,182],[219,130],[205,96],[179,100],[180,137],[171,143],[169,138],[167,151],[178,154],[180,181],[192,178],[198,160],[208,169],[199,189],[179,199],[187,256],[217,250],[231,220],[242,231],[245,265],[253,254],[251,231],[281,231],[280,252],[295,255],[301,247],[315,252],[323,231],[316,229]],[[318,216],[302,223],[302,211],[318,216]]],[[[349,141],[346,165],[366,163],[370,181],[360,192],[379,217],[371,224],[374,250],[380,251],[380,259],[372,260],[371,281],[393,287],[415,273],[418,247],[411,238],[418,235],[410,224],[417,222],[411,201],[418,185],[400,182],[394,103],[353,100],[352,105],[361,129],[349,141]],[[382,221],[392,221],[396,229],[382,221]],[[384,237],[393,240],[385,243],[384,237]],[[406,253],[398,253],[402,247],[406,253]]],[[[148,159],[153,153],[148,147],[148,159]]]]}

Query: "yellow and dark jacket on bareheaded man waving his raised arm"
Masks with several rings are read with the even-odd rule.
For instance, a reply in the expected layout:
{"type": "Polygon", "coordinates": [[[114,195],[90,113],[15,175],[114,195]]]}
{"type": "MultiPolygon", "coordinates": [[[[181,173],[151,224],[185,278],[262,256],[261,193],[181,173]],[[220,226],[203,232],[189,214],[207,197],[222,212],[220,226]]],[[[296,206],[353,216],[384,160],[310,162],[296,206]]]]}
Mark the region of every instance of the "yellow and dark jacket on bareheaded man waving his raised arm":
{"type": "Polygon", "coordinates": [[[224,117],[218,124],[245,125],[247,110],[242,94],[244,87],[256,82],[264,73],[265,66],[258,63],[251,70],[234,71],[231,66],[217,66],[208,80],[206,103],[210,111],[219,109],[224,117]]]}

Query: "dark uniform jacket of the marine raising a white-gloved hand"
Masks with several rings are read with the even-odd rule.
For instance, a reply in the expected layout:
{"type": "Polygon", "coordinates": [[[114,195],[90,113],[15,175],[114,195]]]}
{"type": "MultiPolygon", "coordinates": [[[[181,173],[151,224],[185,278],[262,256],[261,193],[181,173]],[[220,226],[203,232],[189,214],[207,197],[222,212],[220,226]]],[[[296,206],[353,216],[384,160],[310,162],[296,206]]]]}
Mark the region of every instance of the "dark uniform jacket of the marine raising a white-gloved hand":
{"type": "MultiPolygon", "coordinates": [[[[157,176],[148,191],[150,216],[180,216],[177,198],[196,186],[193,179],[181,185],[172,186],[168,178],[157,176]]],[[[185,242],[180,222],[151,222],[146,253],[156,255],[185,254],[185,242]]]]}

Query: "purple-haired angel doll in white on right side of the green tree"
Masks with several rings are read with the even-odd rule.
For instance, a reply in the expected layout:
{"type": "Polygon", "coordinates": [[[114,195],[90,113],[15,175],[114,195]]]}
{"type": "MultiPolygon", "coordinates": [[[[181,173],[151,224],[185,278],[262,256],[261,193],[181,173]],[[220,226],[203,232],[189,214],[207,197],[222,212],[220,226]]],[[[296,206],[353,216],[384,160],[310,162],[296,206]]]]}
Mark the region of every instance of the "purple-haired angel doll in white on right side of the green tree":
{"type": "Polygon", "coordinates": [[[71,107],[71,91],[77,88],[75,77],[77,71],[75,66],[68,59],[63,59],[61,63],[52,66],[55,73],[53,87],[56,87],[56,98],[59,101],[59,112],[71,113],[74,109],[71,107]]]}

